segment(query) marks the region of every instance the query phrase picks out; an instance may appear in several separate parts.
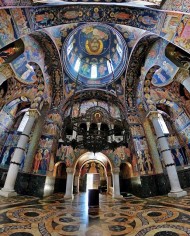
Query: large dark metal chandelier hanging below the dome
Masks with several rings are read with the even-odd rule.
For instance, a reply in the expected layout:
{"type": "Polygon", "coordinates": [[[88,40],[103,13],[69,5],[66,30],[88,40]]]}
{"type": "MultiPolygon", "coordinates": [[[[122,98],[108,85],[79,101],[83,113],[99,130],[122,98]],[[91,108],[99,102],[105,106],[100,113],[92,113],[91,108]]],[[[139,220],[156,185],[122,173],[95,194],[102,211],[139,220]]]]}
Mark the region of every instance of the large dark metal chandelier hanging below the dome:
{"type": "MultiPolygon", "coordinates": [[[[80,61],[82,60],[80,59],[80,61]]],[[[109,64],[113,77],[112,81],[114,82],[113,67],[109,59],[107,59],[107,64],[109,64]]],[[[64,118],[62,129],[63,144],[72,146],[73,149],[85,149],[93,153],[106,149],[115,150],[117,147],[127,146],[129,141],[128,125],[123,114],[121,114],[122,117],[120,119],[111,117],[110,106],[116,104],[119,100],[117,97],[111,95],[108,90],[106,90],[106,93],[104,92],[104,99],[102,98],[108,105],[108,111],[96,102],[94,107],[88,109],[88,111],[90,110],[89,112],[87,111],[88,113],[81,114],[81,105],[83,102],[91,98],[102,100],[103,92],[92,90],[88,92],[90,94],[88,98],[83,88],[80,88],[80,93],[77,93],[79,74],[80,68],[76,78],[74,93],[67,104],[66,110],[69,111],[69,114],[65,115],[64,118]],[[78,105],[76,106],[76,104],[78,105]],[[77,116],[73,115],[74,106],[78,109],[77,116]],[[104,116],[106,116],[106,119],[104,116]],[[113,125],[111,126],[110,124],[113,125]]],[[[80,84],[80,86],[82,85],[80,84]]]]}

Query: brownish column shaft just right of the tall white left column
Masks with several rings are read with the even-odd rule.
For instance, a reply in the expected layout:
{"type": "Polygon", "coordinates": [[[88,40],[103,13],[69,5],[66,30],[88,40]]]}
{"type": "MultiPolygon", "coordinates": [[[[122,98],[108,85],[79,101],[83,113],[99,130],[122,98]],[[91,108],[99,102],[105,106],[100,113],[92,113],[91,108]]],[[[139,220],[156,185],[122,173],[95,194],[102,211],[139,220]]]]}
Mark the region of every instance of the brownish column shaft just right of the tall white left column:
{"type": "Polygon", "coordinates": [[[39,145],[39,140],[43,131],[43,124],[45,122],[44,117],[47,114],[47,106],[44,106],[41,111],[41,116],[38,118],[37,123],[34,128],[30,146],[25,158],[23,172],[30,173],[32,172],[34,156],[39,145]]]}

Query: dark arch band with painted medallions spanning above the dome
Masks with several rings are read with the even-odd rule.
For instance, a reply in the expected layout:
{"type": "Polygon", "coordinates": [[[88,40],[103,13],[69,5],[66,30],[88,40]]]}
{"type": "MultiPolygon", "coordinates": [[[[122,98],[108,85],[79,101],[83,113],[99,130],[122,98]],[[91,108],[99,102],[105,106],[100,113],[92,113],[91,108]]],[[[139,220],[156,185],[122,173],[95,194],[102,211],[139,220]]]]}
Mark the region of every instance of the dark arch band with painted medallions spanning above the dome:
{"type": "MultiPolygon", "coordinates": [[[[168,40],[168,35],[160,30],[166,12],[155,9],[142,9],[127,6],[111,6],[101,5],[101,9],[92,5],[72,5],[62,8],[47,9],[44,7],[32,9],[30,17],[33,22],[34,30],[51,27],[65,23],[78,22],[106,22],[129,25],[149,32],[159,34],[160,37],[168,40]],[[96,12],[96,14],[95,14],[96,12]]],[[[179,13],[181,16],[183,13],[179,13]]],[[[179,17],[178,23],[181,22],[179,17]]],[[[179,44],[177,40],[173,40],[175,44],[179,44]]],[[[180,45],[181,46],[181,45],[180,45]]],[[[185,47],[185,45],[182,45],[185,47]]],[[[185,48],[186,49],[186,48],[185,48]]]]}

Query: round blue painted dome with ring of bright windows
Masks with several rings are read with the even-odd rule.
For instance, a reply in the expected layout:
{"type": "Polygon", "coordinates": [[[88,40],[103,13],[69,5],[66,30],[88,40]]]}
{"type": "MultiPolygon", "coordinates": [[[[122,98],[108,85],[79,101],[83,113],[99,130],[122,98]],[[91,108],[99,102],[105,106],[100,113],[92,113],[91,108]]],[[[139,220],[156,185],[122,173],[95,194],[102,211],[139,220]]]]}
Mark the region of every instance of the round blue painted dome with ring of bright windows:
{"type": "Polygon", "coordinates": [[[120,33],[109,25],[83,24],[68,35],[62,48],[66,73],[86,87],[100,87],[123,73],[128,48],[120,33]]]}

